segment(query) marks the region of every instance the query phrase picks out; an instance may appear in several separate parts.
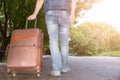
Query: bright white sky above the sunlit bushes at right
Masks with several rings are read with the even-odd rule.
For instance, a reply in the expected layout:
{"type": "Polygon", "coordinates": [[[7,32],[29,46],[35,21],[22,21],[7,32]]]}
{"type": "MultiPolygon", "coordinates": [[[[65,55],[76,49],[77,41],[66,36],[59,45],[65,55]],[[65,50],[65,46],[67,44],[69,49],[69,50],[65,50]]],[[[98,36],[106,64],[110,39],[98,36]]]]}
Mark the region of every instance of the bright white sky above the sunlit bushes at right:
{"type": "Polygon", "coordinates": [[[79,19],[79,24],[89,22],[104,22],[113,25],[120,31],[120,1],[119,0],[102,0],[94,4],[89,11],[82,11],[85,15],[79,19]]]}

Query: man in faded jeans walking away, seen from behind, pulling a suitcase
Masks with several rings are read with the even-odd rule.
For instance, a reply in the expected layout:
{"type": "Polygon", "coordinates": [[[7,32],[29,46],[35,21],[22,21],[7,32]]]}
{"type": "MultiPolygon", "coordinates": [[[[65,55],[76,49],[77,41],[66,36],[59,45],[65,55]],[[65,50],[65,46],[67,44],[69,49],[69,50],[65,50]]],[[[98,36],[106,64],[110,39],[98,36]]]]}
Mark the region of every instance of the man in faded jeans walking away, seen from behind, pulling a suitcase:
{"type": "Polygon", "coordinates": [[[27,19],[34,20],[43,4],[52,59],[51,75],[61,76],[61,72],[70,71],[69,24],[70,22],[73,24],[75,20],[76,0],[37,0],[34,13],[27,19]]]}

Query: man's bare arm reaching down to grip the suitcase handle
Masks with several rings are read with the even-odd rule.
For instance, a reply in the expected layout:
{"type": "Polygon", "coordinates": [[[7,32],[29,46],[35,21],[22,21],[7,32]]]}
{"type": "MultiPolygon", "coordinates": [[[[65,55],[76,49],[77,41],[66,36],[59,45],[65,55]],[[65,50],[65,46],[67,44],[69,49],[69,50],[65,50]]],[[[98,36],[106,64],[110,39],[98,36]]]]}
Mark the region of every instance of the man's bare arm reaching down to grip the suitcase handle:
{"type": "Polygon", "coordinates": [[[28,20],[34,20],[36,18],[38,12],[40,11],[40,9],[43,5],[43,3],[44,3],[44,0],[37,0],[35,10],[34,10],[32,15],[27,17],[28,20]]]}

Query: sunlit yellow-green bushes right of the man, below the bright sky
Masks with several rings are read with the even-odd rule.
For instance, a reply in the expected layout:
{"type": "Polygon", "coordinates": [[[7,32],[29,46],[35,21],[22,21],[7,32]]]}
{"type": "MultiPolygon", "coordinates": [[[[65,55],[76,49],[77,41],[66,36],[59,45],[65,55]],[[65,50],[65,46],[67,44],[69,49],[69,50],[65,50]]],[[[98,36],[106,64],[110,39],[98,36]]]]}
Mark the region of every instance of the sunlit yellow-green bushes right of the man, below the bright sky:
{"type": "Polygon", "coordinates": [[[75,55],[100,55],[120,50],[120,34],[109,24],[83,23],[71,27],[70,49],[75,55]]]}

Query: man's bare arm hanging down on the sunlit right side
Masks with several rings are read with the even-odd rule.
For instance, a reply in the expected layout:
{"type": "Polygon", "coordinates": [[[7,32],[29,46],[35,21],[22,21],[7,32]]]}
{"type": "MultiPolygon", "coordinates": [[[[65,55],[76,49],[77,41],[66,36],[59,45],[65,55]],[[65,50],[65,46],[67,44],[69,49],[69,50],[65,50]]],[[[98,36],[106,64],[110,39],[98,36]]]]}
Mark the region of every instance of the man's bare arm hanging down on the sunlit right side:
{"type": "Polygon", "coordinates": [[[75,22],[75,9],[76,9],[76,0],[72,0],[71,12],[70,12],[70,22],[71,22],[71,24],[74,24],[74,22],[75,22]]]}

